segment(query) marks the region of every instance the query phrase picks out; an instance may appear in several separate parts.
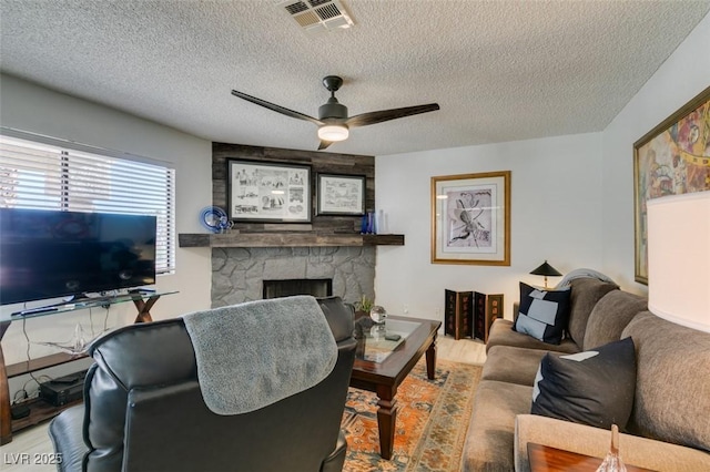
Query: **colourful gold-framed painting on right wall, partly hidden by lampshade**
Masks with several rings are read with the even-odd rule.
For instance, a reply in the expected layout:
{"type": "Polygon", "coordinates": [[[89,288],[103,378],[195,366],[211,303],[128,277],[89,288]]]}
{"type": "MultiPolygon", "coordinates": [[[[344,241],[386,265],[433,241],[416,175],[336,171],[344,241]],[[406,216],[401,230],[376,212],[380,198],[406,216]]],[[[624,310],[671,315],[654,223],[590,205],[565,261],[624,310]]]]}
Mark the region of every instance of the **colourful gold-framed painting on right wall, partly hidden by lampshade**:
{"type": "Polygon", "coordinates": [[[636,281],[648,284],[646,203],[709,189],[710,88],[633,143],[636,281]]]}

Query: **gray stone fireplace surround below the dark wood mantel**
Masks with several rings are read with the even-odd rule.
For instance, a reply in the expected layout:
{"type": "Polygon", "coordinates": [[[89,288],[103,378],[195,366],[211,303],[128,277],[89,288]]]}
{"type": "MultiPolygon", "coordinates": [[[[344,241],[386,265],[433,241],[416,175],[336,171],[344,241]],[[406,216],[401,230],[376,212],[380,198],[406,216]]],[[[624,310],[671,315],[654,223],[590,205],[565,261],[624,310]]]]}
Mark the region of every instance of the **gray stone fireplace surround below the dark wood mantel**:
{"type": "Polygon", "coordinates": [[[375,257],[374,246],[213,248],[212,307],[264,298],[264,280],[329,279],[345,301],[374,298],[375,257]]]}

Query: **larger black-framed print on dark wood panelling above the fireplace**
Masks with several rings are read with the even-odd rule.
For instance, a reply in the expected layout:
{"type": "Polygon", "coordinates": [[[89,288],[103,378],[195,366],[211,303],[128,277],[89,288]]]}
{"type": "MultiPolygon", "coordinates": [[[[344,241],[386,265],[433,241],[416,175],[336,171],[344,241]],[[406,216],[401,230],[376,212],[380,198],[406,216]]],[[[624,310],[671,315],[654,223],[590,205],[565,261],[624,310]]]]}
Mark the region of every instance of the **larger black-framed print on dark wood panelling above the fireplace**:
{"type": "Polygon", "coordinates": [[[311,220],[311,167],[227,160],[230,218],[241,222],[311,220]]]}

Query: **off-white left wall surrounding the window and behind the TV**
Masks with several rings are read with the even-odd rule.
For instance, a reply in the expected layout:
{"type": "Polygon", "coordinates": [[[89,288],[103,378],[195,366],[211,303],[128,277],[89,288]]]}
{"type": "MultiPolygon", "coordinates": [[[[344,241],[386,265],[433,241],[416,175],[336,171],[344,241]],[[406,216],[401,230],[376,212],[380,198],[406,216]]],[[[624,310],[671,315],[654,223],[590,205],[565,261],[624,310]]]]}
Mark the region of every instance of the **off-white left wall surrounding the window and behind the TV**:
{"type": "MultiPolygon", "coordinates": [[[[212,143],[146,120],[57,93],[9,75],[0,76],[0,125],[44,134],[92,146],[122,151],[170,163],[176,176],[176,229],[201,232],[197,215],[212,202],[212,143]]],[[[210,250],[176,250],[174,275],[159,276],[159,290],[178,290],[164,297],[151,310],[154,319],[171,318],[210,307],[210,250]]],[[[16,307],[4,306],[0,316],[9,316],[16,307]]],[[[132,322],[132,304],[114,306],[108,320],[112,326],[132,322]]],[[[68,341],[77,322],[84,331],[100,331],[105,310],[81,310],[70,315],[48,316],[27,322],[31,341],[68,341]]],[[[13,322],[2,348],[8,363],[27,359],[22,324],[13,322]]],[[[32,343],[30,355],[42,356],[48,348],[32,343]]],[[[12,392],[11,392],[12,393],[12,392]]]]}

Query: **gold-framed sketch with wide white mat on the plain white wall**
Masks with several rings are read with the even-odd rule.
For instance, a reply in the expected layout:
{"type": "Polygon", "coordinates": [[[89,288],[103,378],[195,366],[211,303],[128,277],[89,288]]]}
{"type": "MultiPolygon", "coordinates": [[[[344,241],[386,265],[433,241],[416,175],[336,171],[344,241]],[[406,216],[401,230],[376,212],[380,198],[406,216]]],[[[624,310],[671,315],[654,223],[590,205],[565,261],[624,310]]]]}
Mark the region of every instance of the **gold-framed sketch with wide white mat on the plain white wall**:
{"type": "Polygon", "coordinates": [[[432,177],[432,263],[510,265],[510,171],[432,177]]]}

